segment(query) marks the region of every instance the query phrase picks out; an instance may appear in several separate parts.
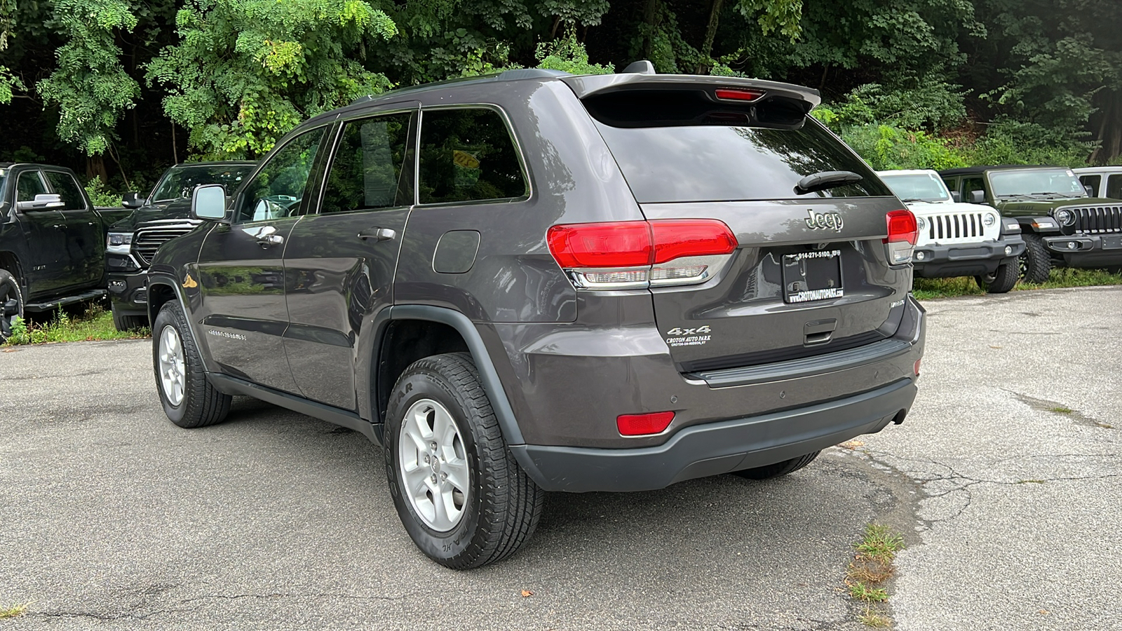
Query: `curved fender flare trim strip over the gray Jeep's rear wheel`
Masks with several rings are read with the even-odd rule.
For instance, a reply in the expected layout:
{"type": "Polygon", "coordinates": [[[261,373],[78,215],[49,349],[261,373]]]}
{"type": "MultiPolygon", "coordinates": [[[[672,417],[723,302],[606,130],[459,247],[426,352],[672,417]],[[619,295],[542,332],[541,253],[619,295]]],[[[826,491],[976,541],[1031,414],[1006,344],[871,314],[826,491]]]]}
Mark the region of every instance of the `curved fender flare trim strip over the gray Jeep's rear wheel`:
{"type": "MultiPolygon", "coordinates": [[[[514,418],[514,409],[511,408],[511,401],[507,399],[506,391],[503,390],[503,382],[495,369],[495,363],[491,360],[490,354],[487,353],[479,330],[467,316],[452,309],[427,304],[395,304],[389,310],[390,320],[429,320],[456,329],[463,338],[465,344],[468,345],[468,351],[471,353],[471,358],[479,371],[479,381],[482,382],[484,390],[487,392],[487,399],[490,400],[491,409],[495,411],[495,418],[498,420],[507,446],[525,445],[522,430],[518,429],[518,422],[514,418]]],[[[517,450],[515,452],[517,454],[517,450]]]]}

